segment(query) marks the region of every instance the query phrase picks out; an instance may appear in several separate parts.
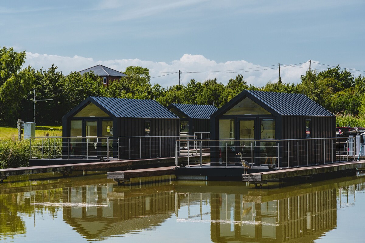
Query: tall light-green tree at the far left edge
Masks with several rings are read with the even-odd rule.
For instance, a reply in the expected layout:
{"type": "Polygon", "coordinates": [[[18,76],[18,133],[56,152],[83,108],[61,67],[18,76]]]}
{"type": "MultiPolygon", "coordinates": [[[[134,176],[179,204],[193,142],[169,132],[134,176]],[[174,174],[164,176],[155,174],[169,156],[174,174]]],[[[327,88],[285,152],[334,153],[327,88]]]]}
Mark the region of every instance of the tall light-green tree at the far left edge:
{"type": "Polygon", "coordinates": [[[21,70],[25,51],[16,52],[12,47],[0,49],[0,124],[14,125],[19,118],[22,99],[34,82],[30,66],[21,70]]]}

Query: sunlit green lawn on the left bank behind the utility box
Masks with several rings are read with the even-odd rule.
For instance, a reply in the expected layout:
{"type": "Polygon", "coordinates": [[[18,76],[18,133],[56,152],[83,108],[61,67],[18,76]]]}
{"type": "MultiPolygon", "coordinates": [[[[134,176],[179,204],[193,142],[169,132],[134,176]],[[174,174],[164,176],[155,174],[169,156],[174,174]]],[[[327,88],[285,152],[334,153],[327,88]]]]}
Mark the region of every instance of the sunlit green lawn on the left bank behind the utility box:
{"type": "MultiPolygon", "coordinates": [[[[62,136],[62,126],[35,126],[36,137],[46,136],[47,133],[49,136],[62,136]]],[[[18,140],[18,128],[0,126],[0,140],[12,138],[18,140]]]]}

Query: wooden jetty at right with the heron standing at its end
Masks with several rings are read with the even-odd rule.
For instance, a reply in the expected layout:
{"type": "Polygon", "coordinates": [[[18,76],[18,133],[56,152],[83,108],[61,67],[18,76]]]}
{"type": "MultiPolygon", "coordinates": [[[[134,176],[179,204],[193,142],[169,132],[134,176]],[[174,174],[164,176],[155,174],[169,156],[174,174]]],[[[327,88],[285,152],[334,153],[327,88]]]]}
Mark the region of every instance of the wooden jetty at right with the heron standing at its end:
{"type": "Polygon", "coordinates": [[[365,160],[337,162],[333,164],[314,165],[299,168],[281,169],[278,171],[268,171],[242,175],[242,181],[252,184],[266,184],[268,181],[282,181],[292,178],[311,178],[315,175],[351,171],[357,168],[365,168],[365,160]]]}

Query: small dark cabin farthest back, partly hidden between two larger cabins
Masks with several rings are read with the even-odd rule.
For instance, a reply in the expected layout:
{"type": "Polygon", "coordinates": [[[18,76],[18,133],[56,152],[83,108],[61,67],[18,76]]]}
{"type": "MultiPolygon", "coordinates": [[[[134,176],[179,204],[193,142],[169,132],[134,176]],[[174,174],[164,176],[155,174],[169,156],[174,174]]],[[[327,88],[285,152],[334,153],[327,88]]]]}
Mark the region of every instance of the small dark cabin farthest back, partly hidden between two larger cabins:
{"type": "Polygon", "coordinates": [[[209,138],[210,132],[210,115],[213,114],[217,107],[214,105],[188,105],[188,104],[170,104],[167,109],[180,117],[180,132],[187,132],[189,135],[197,134],[198,138],[209,138]]]}

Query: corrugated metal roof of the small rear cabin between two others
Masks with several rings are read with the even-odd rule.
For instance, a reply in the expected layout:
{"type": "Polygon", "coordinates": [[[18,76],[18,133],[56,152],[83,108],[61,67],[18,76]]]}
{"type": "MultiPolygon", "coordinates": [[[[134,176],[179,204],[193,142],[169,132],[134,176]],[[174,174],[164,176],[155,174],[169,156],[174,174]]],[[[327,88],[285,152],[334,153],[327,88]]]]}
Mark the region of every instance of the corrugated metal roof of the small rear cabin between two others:
{"type": "Polygon", "coordinates": [[[187,115],[187,117],[193,119],[209,119],[210,115],[218,110],[218,108],[213,105],[188,105],[172,103],[168,106],[168,109],[171,109],[170,107],[177,108],[182,113],[187,115]]]}

